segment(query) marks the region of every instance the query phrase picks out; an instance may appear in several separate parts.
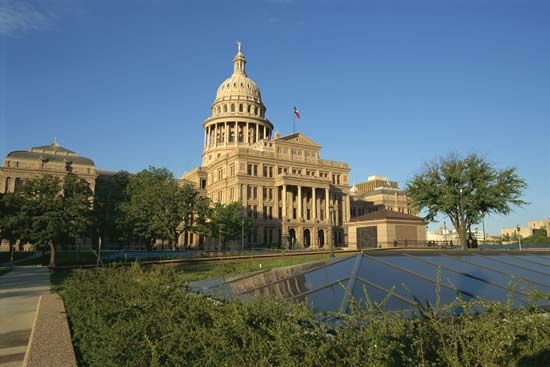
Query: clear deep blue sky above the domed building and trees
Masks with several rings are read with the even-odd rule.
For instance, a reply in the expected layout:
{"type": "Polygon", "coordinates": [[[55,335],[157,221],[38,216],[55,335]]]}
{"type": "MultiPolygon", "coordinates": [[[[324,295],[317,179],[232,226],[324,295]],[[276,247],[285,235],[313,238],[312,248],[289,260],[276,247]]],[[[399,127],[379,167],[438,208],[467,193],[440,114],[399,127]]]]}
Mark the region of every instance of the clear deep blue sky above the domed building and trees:
{"type": "Polygon", "coordinates": [[[478,152],[517,167],[550,216],[550,2],[0,0],[0,155],[49,143],[102,169],[200,162],[202,121],[236,40],[282,134],[403,185],[478,152]]]}

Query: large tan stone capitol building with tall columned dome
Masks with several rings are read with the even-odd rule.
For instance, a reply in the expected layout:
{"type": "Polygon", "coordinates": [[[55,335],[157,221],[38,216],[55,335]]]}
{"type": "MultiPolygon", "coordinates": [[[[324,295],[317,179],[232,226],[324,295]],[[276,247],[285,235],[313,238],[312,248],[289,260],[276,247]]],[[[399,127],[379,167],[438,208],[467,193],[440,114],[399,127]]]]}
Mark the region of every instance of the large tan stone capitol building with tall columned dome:
{"type": "MultiPolygon", "coordinates": [[[[257,230],[245,235],[247,244],[322,248],[332,239],[344,245],[351,212],[349,166],[321,159],[321,146],[302,133],[274,134],[245,66],[239,46],[233,74],[219,86],[203,122],[202,165],[180,179],[214,203],[242,203],[256,219],[257,230]]],[[[180,241],[199,245],[191,233],[180,241]]]]}

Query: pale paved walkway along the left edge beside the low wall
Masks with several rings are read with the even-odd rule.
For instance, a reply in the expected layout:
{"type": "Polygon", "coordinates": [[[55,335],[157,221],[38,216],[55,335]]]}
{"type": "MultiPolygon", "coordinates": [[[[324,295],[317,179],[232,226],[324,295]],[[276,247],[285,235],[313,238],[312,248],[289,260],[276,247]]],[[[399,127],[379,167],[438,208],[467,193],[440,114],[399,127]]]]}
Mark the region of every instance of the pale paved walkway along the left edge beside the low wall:
{"type": "Polygon", "coordinates": [[[0,276],[0,367],[20,367],[38,299],[50,292],[46,267],[16,267],[0,276]]]}

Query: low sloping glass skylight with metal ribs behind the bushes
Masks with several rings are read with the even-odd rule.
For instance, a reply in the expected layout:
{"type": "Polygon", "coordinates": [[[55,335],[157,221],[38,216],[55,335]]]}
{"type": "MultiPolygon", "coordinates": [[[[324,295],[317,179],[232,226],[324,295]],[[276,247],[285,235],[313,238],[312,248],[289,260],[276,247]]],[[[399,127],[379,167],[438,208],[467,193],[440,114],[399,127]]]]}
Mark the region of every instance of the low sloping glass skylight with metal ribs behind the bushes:
{"type": "MultiPolygon", "coordinates": [[[[384,254],[362,253],[292,267],[193,282],[191,290],[215,298],[247,300],[271,295],[307,302],[319,312],[347,312],[351,297],[367,307],[386,299],[389,311],[414,310],[418,302],[436,304],[458,296],[527,304],[527,294],[550,293],[550,256],[536,254],[384,254]],[[511,286],[513,285],[513,286],[511,286]]],[[[550,304],[543,301],[542,304],[550,304]]]]}

